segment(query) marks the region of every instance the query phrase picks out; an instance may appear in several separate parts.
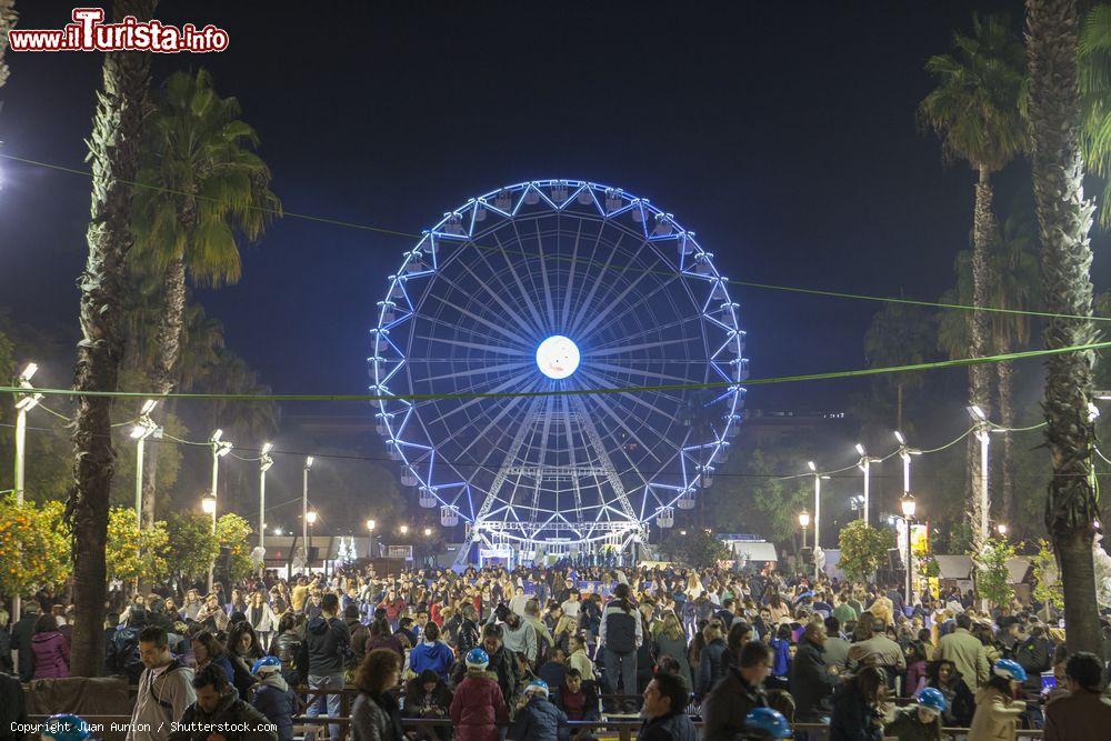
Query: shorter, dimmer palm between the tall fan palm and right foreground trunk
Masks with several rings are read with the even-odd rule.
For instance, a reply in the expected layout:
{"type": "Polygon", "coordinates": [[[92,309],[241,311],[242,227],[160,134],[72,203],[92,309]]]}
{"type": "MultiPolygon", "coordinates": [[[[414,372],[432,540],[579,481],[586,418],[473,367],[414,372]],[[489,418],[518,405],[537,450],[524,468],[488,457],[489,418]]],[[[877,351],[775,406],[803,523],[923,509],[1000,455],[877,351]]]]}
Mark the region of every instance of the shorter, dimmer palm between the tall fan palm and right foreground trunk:
{"type": "MultiPolygon", "coordinates": [[[[1029,311],[1041,304],[1041,269],[1038,266],[1037,236],[1032,219],[1019,212],[1003,222],[1002,233],[992,240],[991,306],[1029,311]]],[[[991,342],[994,351],[1005,354],[1030,343],[1030,316],[992,312],[991,342]]],[[[995,363],[999,382],[999,417],[1004,428],[1013,428],[1014,361],[995,363]]],[[[1003,522],[1011,521],[1014,502],[1014,440],[1003,432],[1002,487],[997,512],[1003,522]]]]}

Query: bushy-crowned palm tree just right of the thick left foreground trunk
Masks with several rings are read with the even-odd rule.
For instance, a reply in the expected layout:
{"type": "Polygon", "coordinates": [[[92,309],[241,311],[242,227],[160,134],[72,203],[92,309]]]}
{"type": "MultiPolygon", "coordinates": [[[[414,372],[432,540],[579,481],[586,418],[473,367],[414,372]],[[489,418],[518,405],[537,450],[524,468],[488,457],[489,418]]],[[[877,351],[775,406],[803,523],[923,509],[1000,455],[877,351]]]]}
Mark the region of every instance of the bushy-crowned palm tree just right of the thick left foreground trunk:
{"type": "MultiPolygon", "coordinates": [[[[257,240],[281,204],[270,191],[270,169],[254,153],[254,130],[239,119],[239,101],[220,98],[212,77],[176,72],[159,96],[148,127],[136,199],[136,267],[162,281],[163,307],[151,369],[154,391],[178,380],[186,318],[186,277],[200,286],[234,283],[241,273],[239,238],[257,240]]],[[[151,455],[156,481],[157,455],[151,455]]],[[[157,492],[144,501],[153,521],[157,492]]]]}

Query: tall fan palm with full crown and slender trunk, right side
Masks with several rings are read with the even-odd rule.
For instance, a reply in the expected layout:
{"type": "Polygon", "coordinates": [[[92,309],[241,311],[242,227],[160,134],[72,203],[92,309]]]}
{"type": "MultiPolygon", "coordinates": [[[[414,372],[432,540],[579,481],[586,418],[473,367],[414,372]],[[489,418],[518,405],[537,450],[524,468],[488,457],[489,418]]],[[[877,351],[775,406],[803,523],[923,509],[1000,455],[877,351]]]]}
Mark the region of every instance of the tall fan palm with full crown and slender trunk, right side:
{"type": "MultiPolygon", "coordinates": [[[[1025,59],[1022,42],[1012,33],[1004,16],[972,16],[972,36],[953,34],[953,52],[931,57],[925,62],[937,87],[918,108],[920,123],[941,138],[947,162],[965,161],[977,171],[975,206],[972,211],[972,303],[989,303],[990,267],[988,250],[995,232],[992,212],[991,173],[1001,170],[1027,146],[1025,123],[1020,112],[1024,88],[1025,59]]],[[[987,312],[972,311],[969,349],[972,356],[988,354],[987,312]]],[[[990,411],[991,368],[969,367],[969,404],[990,411]]],[[[970,500],[974,522],[980,521],[979,458],[969,439],[967,478],[972,482],[970,500]]],[[[982,545],[977,533],[977,548],[982,545]]]]}

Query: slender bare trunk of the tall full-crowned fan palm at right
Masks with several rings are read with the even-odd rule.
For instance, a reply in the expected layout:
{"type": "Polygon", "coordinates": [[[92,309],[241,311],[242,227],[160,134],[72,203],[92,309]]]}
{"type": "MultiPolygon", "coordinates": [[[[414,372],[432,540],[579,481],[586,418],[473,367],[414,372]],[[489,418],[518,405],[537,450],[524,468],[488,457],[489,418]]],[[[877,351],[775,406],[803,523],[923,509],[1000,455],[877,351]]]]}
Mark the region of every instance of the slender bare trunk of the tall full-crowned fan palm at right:
{"type": "MultiPolygon", "coordinates": [[[[992,188],[988,169],[980,166],[980,180],[975,186],[975,207],[972,212],[972,303],[987,307],[990,303],[991,276],[988,264],[988,251],[995,233],[995,217],[991,210],[992,188]]],[[[988,338],[991,328],[988,312],[973,310],[969,321],[969,340],[974,357],[988,354],[988,338]]],[[[990,413],[991,402],[991,367],[987,363],[969,366],[969,404],[974,404],[990,413]]],[[[982,491],[984,479],[980,477],[980,447],[972,438],[968,442],[968,480],[972,482],[972,498],[969,502],[969,517],[972,520],[972,544],[975,552],[983,550],[984,533],[980,530],[983,502],[988,501],[990,492],[982,491]]],[[[989,503],[990,514],[990,503],[989,503]]]]}

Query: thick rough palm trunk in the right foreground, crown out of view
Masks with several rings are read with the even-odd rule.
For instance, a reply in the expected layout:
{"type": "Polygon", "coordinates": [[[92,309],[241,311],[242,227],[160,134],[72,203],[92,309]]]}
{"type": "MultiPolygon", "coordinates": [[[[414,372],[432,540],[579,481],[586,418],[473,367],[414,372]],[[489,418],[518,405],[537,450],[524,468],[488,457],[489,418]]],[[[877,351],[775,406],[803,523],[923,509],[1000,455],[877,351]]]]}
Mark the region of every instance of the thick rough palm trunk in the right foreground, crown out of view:
{"type": "MultiPolygon", "coordinates": [[[[1029,117],[1033,138],[1034,201],[1042,242],[1045,310],[1090,317],[1092,251],[1088,232],[1093,208],[1084,200],[1077,90],[1075,0],[1027,0],[1030,57],[1029,117]]],[[[1092,342],[1090,319],[1050,319],[1045,348],[1092,342]]],[[[1094,425],[1092,352],[1050,356],[1045,362],[1045,438],[1053,478],[1045,525],[1061,567],[1067,644],[1070,653],[1099,654],[1101,635],[1092,561],[1093,520],[1099,513],[1089,479],[1094,425]]]]}

